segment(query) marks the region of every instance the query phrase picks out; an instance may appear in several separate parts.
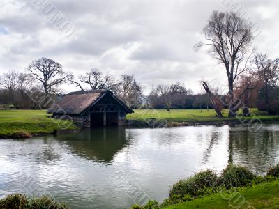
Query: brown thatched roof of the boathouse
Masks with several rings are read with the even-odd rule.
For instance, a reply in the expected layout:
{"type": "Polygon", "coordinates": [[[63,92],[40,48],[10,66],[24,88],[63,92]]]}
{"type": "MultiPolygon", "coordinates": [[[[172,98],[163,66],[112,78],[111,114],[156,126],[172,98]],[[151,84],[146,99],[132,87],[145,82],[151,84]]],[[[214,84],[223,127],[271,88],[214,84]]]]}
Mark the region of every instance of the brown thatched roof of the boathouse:
{"type": "Polygon", "coordinates": [[[133,110],[126,106],[119,98],[108,90],[75,91],[63,96],[59,102],[47,110],[48,114],[70,114],[79,115],[96,104],[103,96],[110,94],[119,105],[126,110],[126,113],[133,113],[133,110]]]}

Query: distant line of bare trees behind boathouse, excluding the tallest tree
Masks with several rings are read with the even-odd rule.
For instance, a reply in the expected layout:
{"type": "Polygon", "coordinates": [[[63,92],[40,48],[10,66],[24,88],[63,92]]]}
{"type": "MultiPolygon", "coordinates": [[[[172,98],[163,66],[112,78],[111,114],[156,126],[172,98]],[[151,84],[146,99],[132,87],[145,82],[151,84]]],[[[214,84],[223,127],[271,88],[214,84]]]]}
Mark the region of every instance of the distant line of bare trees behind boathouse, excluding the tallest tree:
{"type": "MultiPolygon", "coordinates": [[[[257,54],[254,68],[240,75],[234,84],[234,97],[247,107],[257,107],[269,114],[279,113],[279,59],[268,59],[266,54],[257,54]]],[[[194,94],[183,83],[159,84],[143,95],[144,86],[133,75],[104,74],[96,68],[78,76],[62,69],[60,63],[41,58],[32,61],[26,72],[8,72],[0,75],[0,108],[45,109],[50,104],[45,98],[57,100],[63,91],[61,84],[76,86],[77,91],[109,89],[123,102],[133,108],[154,109],[212,109],[208,94],[194,94]]],[[[221,95],[218,88],[210,86],[220,109],[227,108],[229,95],[221,95]]],[[[234,104],[236,105],[236,104],[234,104]]]]}

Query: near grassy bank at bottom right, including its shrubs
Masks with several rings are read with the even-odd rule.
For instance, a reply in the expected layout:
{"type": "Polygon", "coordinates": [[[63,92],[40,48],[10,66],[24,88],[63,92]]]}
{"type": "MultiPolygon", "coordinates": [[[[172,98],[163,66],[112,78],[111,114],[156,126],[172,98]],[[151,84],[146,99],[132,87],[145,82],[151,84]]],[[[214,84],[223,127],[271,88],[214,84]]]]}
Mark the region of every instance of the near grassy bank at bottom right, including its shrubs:
{"type": "Polygon", "coordinates": [[[229,164],[220,174],[205,170],[179,180],[161,204],[149,201],[132,208],[279,208],[278,186],[279,164],[269,168],[266,176],[229,164]]]}

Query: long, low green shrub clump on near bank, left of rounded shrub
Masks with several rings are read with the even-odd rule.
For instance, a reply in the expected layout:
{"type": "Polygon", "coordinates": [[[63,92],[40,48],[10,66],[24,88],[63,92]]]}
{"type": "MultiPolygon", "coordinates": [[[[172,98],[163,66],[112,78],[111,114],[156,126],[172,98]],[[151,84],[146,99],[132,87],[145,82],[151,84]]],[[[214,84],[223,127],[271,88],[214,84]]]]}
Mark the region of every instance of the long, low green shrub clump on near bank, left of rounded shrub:
{"type": "Polygon", "coordinates": [[[179,195],[181,197],[190,194],[190,196],[201,196],[204,194],[206,187],[215,187],[218,176],[211,170],[206,170],[187,178],[186,180],[179,180],[171,191],[169,196],[172,198],[174,195],[179,195]]]}

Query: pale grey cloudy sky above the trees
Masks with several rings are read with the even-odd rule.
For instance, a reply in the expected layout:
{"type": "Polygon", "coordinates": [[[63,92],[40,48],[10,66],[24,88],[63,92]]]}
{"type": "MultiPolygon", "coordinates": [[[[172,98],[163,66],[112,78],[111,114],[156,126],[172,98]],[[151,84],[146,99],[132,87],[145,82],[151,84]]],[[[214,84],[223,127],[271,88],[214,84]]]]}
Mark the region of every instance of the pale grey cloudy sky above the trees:
{"type": "Polygon", "coordinates": [[[238,9],[257,24],[258,51],[279,56],[279,1],[1,0],[0,72],[23,72],[45,56],[75,75],[91,68],[133,74],[146,93],[177,81],[198,92],[200,79],[225,83],[226,75],[193,45],[213,10],[238,9]],[[56,25],[56,13],[64,25],[56,25]]]}

